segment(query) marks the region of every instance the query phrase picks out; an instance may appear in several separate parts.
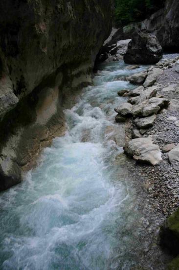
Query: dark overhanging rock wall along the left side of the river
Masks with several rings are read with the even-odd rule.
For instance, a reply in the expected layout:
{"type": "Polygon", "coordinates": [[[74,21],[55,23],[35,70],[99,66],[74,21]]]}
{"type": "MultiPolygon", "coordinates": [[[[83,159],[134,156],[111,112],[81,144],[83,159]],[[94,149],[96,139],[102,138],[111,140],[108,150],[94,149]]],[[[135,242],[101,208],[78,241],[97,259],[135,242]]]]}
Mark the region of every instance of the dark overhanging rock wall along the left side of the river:
{"type": "Polygon", "coordinates": [[[3,190],[21,181],[21,167],[63,128],[73,93],[91,82],[112,0],[1,0],[0,10],[3,190]]]}

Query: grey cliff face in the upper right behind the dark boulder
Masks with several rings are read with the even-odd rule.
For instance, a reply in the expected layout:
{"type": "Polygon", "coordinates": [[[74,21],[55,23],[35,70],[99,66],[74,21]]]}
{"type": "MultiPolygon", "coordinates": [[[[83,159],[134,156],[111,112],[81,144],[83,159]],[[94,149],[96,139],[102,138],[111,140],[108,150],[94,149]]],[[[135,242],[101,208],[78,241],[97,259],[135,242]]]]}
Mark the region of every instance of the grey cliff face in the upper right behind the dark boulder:
{"type": "Polygon", "coordinates": [[[118,29],[109,43],[132,38],[136,30],[156,35],[164,51],[179,52],[179,0],[166,0],[165,7],[149,19],[118,29]]]}

